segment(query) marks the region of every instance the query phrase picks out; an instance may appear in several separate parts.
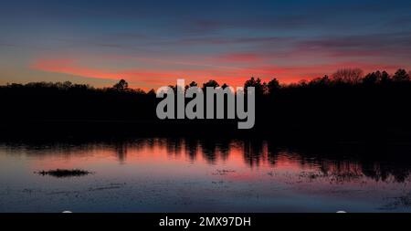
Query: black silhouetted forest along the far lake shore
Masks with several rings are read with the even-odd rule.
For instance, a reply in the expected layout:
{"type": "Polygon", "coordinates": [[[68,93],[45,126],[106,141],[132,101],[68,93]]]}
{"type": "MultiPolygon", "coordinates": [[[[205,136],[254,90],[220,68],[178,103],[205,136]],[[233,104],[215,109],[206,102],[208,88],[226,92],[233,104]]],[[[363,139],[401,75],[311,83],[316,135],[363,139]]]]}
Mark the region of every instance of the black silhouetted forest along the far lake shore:
{"type": "MultiPolygon", "coordinates": [[[[409,138],[410,75],[406,69],[398,69],[390,75],[386,71],[364,74],[359,68],[343,68],[331,76],[293,84],[281,84],[278,79],[264,82],[250,78],[244,87],[256,89],[256,127],[248,132],[293,139],[297,136],[300,139],[315,136],[321,139],[409,138]]],[[[186,88],[193,86],[228,87],[209,80],[202,85],[191,82],[186,88]]],[[[77,128],[79,131],[96,129],[88,127],[92,121],[101,121],[107,131],[113,130],[108,125],[110,122],[119,121],[121,123],[113,125],[115,130],[154,133],[171,130],[175,133],[198,128],[205,134],[211,134],[216,128],[236,131],[235,126],[231,127],[231,121],[172,124],[159,121],[155,115],[158,101],[154,89],[147,92],[132,89],[124,79],[111,88],[94,88],[68,81],[12,83],[0,87],[0,124],[3,128],[12,128],[8,131],[13,131],[13,126],[37,121],[55,121],[61,126],[67,122],[83,122],[77,128]],[[178,129],[175,129],[175,124],[178,124],[178,129]]]]}

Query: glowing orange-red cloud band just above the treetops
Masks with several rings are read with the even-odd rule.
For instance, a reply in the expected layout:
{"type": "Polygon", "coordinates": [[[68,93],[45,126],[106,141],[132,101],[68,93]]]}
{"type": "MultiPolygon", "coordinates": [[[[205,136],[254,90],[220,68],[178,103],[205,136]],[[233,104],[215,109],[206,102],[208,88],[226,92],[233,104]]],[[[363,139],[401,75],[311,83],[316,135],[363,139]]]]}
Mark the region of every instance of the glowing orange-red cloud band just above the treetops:
{"type": "MultiPolygon", "coordinates": [[[[253,56],[235,56],[238,60],[253,59],[253,56]]],[[[177,68],[153,70],[153,68],[104,70],[103,68],[88,68],[80,66],[74,59],[39,59],[31,68],[41,71],[62,73],[73,76],[95,79],[127,79],[132,88],[157,89],[165,85],[175,84],[176,79],[186,79],[203,83],[209,79],[215,79],[220,84],[227,83],[233,87],[242,86],[250,77],[269,79],[277,78],[282,83],[298,82],[301,79],[313,79],[325,74],[332,74],[338,68],[364,68],[364,71],[386,69],[394,71],[395,66],[380,64],[367,64],[358,62],[340,62],[334,64],[316,64],[306,66],[280,67],[275,65],[250,66],[250,67],[223,67],[204,65],[204,67],[177,68]]]]}

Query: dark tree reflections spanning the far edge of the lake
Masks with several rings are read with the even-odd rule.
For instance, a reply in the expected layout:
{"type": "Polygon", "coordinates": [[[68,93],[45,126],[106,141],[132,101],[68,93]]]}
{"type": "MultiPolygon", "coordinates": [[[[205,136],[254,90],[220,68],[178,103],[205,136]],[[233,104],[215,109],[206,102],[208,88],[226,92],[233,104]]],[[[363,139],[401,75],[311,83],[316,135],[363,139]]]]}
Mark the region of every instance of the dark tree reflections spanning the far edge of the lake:
{"type": "Polygon", "coordinates": [[[58,142],[7,142],[1,143],[7,153],[67,157],[85,156],[93,152],[110,151],[120,163],[127,162],[127,155],[141,150],[165,149],[170,155],[188,157],[198,161],[203,156],[209,164],[230,162],[233,155],[241,156],[249,167],[269,164],[275,171],[282,158],[297,162],[300,166],[315,169],[324,176],[349,182],[360,177],[374,181],[408,181],[411,174],[411,147],[382,145],[286,145],[260,140],[195,139],[195,138],[142,138],[117,139],[115,141],[69,140],[58,142]],[[383,147],[382,147],[383,146],[383,147]],[[4,148],[5,147],[5,148],[4,148]],[[279,158],[281,157],[281,158],[279,158]]]}

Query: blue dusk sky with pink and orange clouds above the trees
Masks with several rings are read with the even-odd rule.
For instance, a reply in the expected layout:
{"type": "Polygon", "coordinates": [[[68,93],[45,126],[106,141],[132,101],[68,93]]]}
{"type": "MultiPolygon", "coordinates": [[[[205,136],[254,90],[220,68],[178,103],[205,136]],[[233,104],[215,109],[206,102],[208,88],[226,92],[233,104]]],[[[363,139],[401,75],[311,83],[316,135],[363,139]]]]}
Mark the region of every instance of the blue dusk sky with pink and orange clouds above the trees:
{"type": "Polygon", "coordinates": [[[242,86],[411,69],[411,1],[4,0],[0,84],[242,86]]]}

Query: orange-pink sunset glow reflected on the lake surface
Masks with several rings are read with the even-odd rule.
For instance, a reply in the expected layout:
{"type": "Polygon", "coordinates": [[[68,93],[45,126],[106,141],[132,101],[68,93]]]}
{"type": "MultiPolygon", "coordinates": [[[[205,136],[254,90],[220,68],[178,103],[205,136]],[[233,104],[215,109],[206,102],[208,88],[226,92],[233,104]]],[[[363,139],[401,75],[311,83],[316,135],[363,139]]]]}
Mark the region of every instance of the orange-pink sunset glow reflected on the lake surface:
{"type": "MultiPolygon", "coordinates": [[[[306,178],[311,183],[368,184],[383,180],[395,180],[390,173],[382,173],[378,166],[376,174],[368,178],[360,163],[342,161],[315,162],[305,160],[298,152],[271,150],[268,142],[232,141],[211,144],[184,139],[148,139],[136,142],[114,143],[87,149],[76,148],[64,152],[42,153],[45,157],[30,163],[32,171],[51,169],[84,168],[100,174],[116,173],[115,162],[136,175],[150,173],[153,177],[204,177],[204,174],[219,176],[225,180],[300,181],[306,178]],[[216,173],[220,171],[222,173],[216,173]],[[271,177],[269,177],[271,176],[271,177]],[[300,179],[298,179],[300,177],[300,179]]],[[[121,170],[121,169],[120,169],[121,170]]],[[[368,171],[368,173],[372,173],[368,171]]]]}

